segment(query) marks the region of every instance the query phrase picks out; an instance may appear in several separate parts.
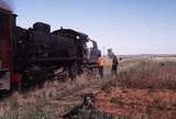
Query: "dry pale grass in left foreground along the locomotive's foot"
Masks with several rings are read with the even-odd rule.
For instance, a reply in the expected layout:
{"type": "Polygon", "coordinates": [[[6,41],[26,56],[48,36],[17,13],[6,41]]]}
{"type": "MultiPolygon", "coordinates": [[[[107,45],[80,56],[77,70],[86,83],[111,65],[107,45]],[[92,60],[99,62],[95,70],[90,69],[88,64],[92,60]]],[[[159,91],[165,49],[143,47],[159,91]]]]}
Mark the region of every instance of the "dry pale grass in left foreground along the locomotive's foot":
{"type": "Polygon", "coordinates": [[[0,101],[0,117],[2,119],[58,119],[61,113],[79,104],[79,99],[62,102],[64,97],[68,97],[94,80],[84,74],[73,82],[53,80],[45,83],[44,88],[24,94],[16,91],[0,101]]]}

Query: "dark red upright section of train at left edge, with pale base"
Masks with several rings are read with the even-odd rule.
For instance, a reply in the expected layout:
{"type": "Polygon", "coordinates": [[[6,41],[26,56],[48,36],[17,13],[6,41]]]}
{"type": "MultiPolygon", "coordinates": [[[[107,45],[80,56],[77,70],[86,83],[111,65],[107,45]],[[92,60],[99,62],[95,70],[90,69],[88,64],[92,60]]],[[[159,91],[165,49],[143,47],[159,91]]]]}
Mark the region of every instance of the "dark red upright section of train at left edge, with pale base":
{"type": "Polygon", "coordinates": [[[11,18],[11,11],[0,8],[0,90],[10,89],[11,18]]]}

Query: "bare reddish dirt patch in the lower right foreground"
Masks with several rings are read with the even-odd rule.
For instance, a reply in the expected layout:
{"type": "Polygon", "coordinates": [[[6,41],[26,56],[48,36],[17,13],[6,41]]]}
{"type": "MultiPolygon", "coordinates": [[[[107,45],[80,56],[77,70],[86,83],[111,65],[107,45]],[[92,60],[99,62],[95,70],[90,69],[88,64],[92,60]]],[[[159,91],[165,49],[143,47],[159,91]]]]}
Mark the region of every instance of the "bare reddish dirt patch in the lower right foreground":
{"type": "Polygon", "coordinates": [[[116,87],[110,93],[99,93],[95,106],[101,111],[128,119],[175,119],[176,93],[116,87]]]}

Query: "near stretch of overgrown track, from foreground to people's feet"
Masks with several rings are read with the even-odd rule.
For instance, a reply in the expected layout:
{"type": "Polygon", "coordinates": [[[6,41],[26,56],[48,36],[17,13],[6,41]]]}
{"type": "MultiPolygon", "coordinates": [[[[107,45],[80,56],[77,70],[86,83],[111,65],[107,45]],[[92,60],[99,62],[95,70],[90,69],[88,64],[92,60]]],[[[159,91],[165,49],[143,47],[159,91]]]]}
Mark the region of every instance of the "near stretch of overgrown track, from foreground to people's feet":
{"type": "Polygon", "coordinates": [[[85,96],[87,94],[96,95],[101,90],[101,87],[111,82],[112,79],[102,80],[97,79],[88,85],[77,87],[72,90],[64,90],[57,99],[53,99],[51,104],[57,105],[57,115],[59,118],[68,113],[75,107],[80,106],[84,102],[85,96]]]}

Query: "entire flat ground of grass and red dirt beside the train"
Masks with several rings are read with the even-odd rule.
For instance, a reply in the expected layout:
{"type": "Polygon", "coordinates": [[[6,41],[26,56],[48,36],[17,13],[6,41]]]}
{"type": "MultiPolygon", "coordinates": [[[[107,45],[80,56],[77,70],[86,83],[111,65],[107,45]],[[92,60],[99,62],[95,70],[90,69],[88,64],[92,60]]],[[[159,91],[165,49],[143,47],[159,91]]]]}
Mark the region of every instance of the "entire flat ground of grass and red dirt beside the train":
{"type": "MultiPolygon", "coordinates": [[[[14,93],[0,101],[1,118],[63,118],[80,106],[87,94],[94,96],[94,109],[107,115],[105,119],[176,118],[176,57],[123,58],[118,76],[110,74],[110,61],[106,62],[103,79],[95,72],[75,80],[52,80],[43,88],[14,93]]],[[[74,115],[76,119],[89,117],[74,115]]],[[[69,118],[75,119],[74,115],[69,118]]],[[[100,117],[97,115],[92,119],[100,117]]]]}

